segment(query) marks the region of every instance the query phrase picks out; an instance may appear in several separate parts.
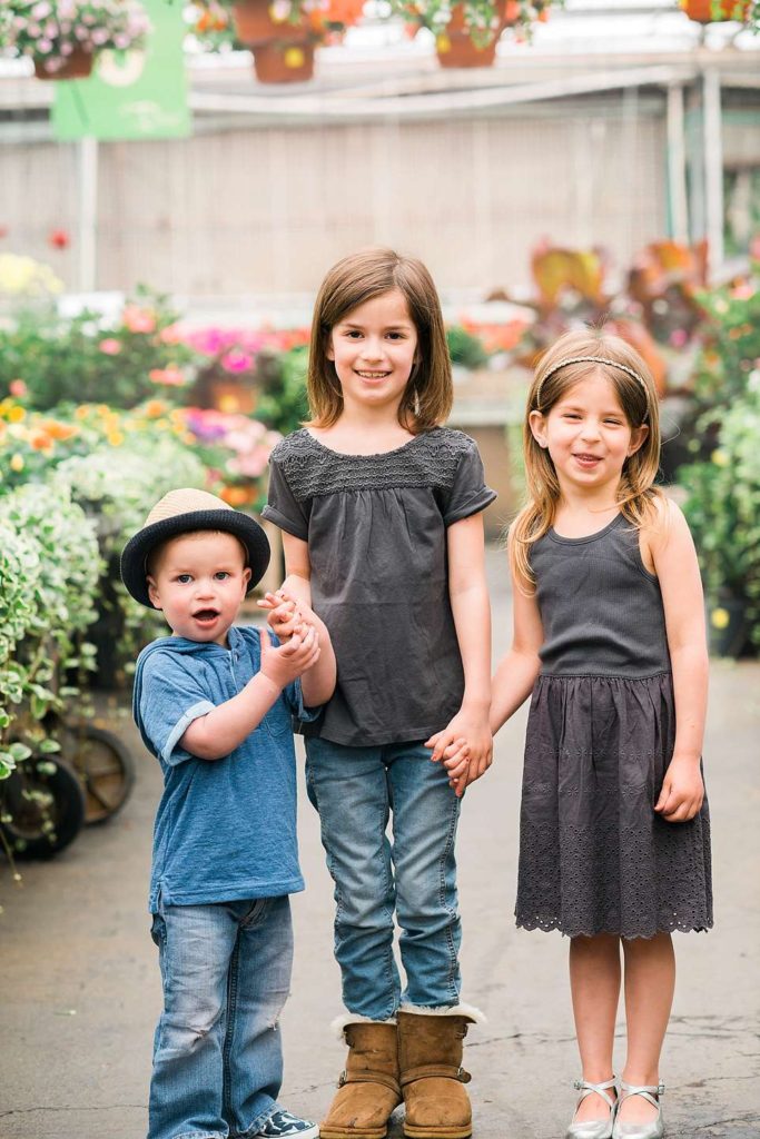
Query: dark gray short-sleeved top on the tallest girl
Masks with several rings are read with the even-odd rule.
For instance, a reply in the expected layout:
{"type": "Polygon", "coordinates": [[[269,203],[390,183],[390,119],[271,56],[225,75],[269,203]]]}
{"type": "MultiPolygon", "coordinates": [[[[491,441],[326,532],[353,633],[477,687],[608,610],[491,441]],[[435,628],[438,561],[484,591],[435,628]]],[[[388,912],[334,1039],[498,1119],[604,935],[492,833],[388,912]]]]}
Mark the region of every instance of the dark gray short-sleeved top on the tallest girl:
{"type": "Polygon", "coordinates": [[[422,740],[457,713],[446,531],[495,498],[474,441],[449,427],[384,454],[342,454],[305,429],[275,448],[263,516],[309,543],[312,605],[337,657],[321,738],[422,740]]]}

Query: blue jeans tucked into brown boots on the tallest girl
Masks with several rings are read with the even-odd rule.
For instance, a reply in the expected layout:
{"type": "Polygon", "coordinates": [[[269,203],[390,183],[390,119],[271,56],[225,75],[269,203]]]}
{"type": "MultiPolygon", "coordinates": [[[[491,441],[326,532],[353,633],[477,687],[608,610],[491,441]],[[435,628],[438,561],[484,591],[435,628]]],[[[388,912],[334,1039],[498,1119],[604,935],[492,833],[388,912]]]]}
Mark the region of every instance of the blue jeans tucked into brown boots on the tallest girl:
{"type": "Polygon", "coordinates": [[[461,927],[453,843],[460,801],[419,743],[307,740],[307,788],[335,883],[335,956],[350,1013],[385,1021],[400,1003],[459,1000],[461,927]],[[386,834],[393,813],[393,843],[386,834]],[[393,917],[407,977],[401,993],[393,917]]]}

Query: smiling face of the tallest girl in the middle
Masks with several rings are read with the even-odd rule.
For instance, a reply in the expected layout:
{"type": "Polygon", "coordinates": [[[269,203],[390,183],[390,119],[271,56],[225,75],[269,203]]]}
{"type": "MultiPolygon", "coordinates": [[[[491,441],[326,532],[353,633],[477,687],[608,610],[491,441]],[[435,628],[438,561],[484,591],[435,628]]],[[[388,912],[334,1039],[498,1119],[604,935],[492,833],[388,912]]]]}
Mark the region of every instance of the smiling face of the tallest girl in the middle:
{"type": "Polygon", "coordinates": [[[344,405],[374,408],[398,408],[416,353],[417,329],[399,289],[346,313],[333,328],[327,350],[344,405]]]}

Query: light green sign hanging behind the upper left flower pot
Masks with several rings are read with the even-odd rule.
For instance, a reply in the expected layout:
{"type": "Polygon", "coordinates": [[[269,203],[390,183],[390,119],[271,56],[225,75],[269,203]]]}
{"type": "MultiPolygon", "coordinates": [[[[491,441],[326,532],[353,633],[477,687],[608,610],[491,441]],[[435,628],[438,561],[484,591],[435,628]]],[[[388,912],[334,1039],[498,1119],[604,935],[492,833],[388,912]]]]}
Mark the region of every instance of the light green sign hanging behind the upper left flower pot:
{"type": "Polygon", "coordinates": [[[144,51],[101,51],[90,79],[55,84],[52,129],[62,140],[158,139],[190,133],[181,0],[141,0],[153,30],[144,51]]]}

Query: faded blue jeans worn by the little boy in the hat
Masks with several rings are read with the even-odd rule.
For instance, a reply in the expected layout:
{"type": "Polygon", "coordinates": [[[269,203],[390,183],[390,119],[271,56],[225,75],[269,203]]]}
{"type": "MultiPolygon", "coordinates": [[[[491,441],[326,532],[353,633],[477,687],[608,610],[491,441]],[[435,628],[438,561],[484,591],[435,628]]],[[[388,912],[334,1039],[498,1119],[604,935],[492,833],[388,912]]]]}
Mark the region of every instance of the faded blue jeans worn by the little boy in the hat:
{"type": "Polygon", "coordinates": [[[160,908],[153,940],[164,1010],[148,1139],[255,1134],[280,1107],[277,1021],[291,984],[289,899],[160,908]]]}

